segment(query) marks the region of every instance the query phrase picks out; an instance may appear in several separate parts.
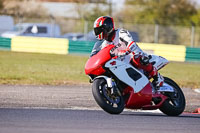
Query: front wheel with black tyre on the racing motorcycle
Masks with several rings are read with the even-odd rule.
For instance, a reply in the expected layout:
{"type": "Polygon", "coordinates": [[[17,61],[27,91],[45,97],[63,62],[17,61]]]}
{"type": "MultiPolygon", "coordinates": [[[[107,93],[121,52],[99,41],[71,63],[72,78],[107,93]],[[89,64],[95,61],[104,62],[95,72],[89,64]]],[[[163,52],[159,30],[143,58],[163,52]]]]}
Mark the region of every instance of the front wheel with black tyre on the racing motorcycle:
{"type": "Polygon", "coordinates": [[[120,114],[124,110],[124,99],[116,91],[107,87],[103,78],[95,79],[92,93],[97,104],[110,114],[120,114]]]}

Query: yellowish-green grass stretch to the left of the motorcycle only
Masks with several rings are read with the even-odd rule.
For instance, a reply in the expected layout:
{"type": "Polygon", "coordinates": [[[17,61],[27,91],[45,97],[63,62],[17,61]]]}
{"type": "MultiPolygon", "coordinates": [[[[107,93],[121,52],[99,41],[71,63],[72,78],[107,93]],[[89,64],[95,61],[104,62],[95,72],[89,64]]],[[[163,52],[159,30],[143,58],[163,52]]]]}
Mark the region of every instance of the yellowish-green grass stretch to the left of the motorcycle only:
{"type": "Polygon", "coordinates": [[[86,56],[0,52],[0,84],[87,82],[86,56]]]}

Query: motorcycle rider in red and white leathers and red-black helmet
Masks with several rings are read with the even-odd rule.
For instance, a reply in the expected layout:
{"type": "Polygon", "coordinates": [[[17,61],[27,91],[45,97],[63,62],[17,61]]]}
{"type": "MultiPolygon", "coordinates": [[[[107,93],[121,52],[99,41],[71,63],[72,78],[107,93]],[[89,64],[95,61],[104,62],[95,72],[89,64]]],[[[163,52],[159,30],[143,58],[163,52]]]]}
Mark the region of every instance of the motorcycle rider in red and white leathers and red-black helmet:
{"type": "Polygon", "coordinates": [[[96,43],[91,56],[107,45],[114,44],[115,50],[111,51],[111,54],[124,57],[132,52],[132,65],[146,72],[149,78],[153,78],[153,83],[157,88],[163,85],[164,78],[153,64],[149,62],[150,56],[140,49],[127,30],[115,29],[112,17],[101,16],[97,18],[94,22],[94,34],[102,43],[96,43]]]}

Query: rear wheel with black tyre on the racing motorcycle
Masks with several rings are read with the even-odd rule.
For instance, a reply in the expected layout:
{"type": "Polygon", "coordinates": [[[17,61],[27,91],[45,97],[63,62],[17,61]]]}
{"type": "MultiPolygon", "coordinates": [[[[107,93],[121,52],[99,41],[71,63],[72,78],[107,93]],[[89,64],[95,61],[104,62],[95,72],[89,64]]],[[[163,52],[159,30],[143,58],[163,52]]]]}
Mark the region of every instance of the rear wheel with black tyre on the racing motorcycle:
{"type": "Polygon", "coordinates": [[[168,97],[168,99],[160,107],[160,110],[169,116],[178,116],[185,109],[185,97],[181,88],[170,78],[165,77],[165,83],[174,88],[173,93],[164,92],[163,94],[168,97]]]}

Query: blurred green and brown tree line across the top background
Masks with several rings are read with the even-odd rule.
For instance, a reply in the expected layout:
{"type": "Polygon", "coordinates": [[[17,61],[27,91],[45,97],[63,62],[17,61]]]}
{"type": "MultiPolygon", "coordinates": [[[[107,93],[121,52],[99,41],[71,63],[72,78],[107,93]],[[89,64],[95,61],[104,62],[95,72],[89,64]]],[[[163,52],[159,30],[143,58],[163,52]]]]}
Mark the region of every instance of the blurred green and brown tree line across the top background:
{"type": "MultiPolygon", "coordinates": [[[[100,3],[105,4],[108,8],[102,10],[98,6],[98,0],[70,0],[71,2],[81,3],[96,3],[96,7],[92,11],[85,11],[80,15],[80,19],[94,21],[101,15],[110,15],[109,6],[111,0],[101,0],[100,3]]],[[[21,7],[23,4],[19,2],[28,2],[28,0],[0,0],[0,14],[7,14],[16,16],[23,14],[23,16],[45,16],[45,9],[32,8],[32,10],[25,10],[21,7]],[[12,2],[16,2],[10,4],[12,2]],[[37,10],[37,11],[36,11],[37,10]],[[40,10],[40,11],[38,11],[40,10]]],[[[30,7],[28,7],[30,8],[30,7]]],[[[80,9],[79,9],[80,10],[80,9]]],[[[84,9],[83,9],[84,10],[84,9]]],[[[79,11],[80,12],[80,11],[79,11]]],[[[117,14],[112,13],[115,19],[121,22],[131,22],[139,24],[161,24],[161,25],[197,25],[200,26],[200,9],[195,3],[190,0],[125,0],[125,6],[117,14]]]]}

